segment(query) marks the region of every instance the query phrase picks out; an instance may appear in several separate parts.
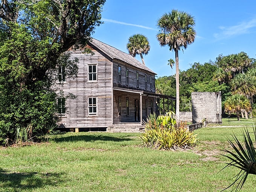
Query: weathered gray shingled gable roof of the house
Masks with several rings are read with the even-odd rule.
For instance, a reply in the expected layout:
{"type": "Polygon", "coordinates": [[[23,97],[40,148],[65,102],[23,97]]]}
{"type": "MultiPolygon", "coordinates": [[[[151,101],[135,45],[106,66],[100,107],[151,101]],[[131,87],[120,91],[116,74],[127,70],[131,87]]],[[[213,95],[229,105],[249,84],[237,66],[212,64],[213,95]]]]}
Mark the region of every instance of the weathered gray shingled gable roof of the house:
{"type": "Polygon", "coordinates": [[[143,65],[141,62],[139,62],[136,58],[129,55],[128,53],[122,52],[108,44],[102,43],[99,40],[96,40],[94,38],[91,38],[89,44],[93,45],[94,47],[98,48],[102,52],[104,52],[106,55],[108,55],[111,59],[118,59],[120,61],[126,62],[130,64],[131,66],[144,69],[148,72],[154,73],[151,69],[143,65]]]}

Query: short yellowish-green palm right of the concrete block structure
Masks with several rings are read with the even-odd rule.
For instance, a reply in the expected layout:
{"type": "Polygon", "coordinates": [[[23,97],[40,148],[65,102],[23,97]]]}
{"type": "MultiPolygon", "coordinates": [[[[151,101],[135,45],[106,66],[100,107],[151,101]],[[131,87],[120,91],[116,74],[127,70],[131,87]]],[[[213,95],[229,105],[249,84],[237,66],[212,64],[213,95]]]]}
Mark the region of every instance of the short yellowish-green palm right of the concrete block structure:
{"type": "Polygon", "coordinates": [[[237,120],[240,120],[241,110],[250,111],[250,101],[241,94],[233,94],[224,102],[225,111],[235,113],[237,120]]]}

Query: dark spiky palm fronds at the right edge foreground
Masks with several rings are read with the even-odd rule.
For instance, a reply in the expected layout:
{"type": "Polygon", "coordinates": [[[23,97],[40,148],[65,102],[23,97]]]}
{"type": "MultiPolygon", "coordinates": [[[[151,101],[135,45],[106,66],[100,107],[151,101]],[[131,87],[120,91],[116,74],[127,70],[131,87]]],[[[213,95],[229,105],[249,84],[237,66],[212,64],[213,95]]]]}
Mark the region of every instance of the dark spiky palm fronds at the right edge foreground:
{"type": "MultiPolygon", "coordinates": [[[[230,184],[230,186],[226,187],[222,191],[228,189],[231,186],[236,186],[235,191],[241,190],[244,185],[248,174],[256,175],[256,151],[255,151],[255,143],[256,143],[256,127],[253,127],[254,133],[254,142],[251,140],[248,129],[244,129],[243,138],[244,145],[238,140],[238,138],[233,135],[233,139],[235,142],[232,142],[230,139],[227,139],[235,152],[229,150],[222,150],[227,152],[228,154],[222,154],[223,156],[229,158],[231,160],[230,163],[226,163],[227,165],[224,168],[234,166],[240,169],[239,173],[234,177],[235,181],[230,184]]],[[[224,169],[223,168],[223,169],[224,169]]]]}

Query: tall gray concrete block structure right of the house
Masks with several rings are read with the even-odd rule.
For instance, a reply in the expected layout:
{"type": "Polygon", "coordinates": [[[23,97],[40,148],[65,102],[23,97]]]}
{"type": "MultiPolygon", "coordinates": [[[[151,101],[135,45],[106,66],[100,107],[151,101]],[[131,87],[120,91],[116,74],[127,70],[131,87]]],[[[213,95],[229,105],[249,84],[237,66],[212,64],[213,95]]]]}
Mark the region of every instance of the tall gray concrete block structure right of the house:
{"type": "Polygon", "coordinates": [[[191,100],[193,123],[222,123],[221,92],[193,92],[191,100]]]}

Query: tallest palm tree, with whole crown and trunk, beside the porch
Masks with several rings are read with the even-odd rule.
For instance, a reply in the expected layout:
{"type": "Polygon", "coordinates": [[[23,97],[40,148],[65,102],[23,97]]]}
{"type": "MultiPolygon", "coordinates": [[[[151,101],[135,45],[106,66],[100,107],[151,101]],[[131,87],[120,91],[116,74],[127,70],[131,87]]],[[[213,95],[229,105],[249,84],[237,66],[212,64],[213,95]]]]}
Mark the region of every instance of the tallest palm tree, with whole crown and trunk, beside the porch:
{"type": "Polygon", "coordinates": [[[168,45],[170,50],[175,52],[176,66],[176,122],[180,123],[180,85],[179,85],[179,58],[178,51],[186,49],[194,42],[196,32],[194,30],[195,20],[192,15],[184,11],[173,9],[171,12],[163,14],[157,21],[160,32],[157,40],[161,46],[168,45]]]}

